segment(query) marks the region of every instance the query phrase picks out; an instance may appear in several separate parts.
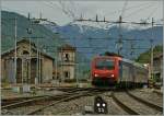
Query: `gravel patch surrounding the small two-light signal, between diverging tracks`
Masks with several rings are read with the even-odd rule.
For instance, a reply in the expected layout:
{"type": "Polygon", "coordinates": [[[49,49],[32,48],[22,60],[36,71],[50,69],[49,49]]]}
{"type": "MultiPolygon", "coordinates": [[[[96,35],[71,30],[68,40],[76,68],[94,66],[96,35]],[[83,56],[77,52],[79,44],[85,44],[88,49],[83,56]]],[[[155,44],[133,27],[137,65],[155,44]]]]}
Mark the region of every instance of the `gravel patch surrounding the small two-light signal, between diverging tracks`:
{"type": "MultiPolygon", "coordinates": [[[[108,105],[108,115],[127,115],[127,113],[121,109],[112,97],[108,97],[110,92],[101,94],[99,96],[103,97],[107,102],[108,105]],[[119,111],[119,112],[118,112],[119,111]]],[[[84,96],[81,98],[77,98],[73,101],[60,103],[56,106],[48,107],[44,109],[42,115],[77,115],[83,114],[85,106],[93,106],[94,105],[94,97],[95,96],[84,96]]]]}

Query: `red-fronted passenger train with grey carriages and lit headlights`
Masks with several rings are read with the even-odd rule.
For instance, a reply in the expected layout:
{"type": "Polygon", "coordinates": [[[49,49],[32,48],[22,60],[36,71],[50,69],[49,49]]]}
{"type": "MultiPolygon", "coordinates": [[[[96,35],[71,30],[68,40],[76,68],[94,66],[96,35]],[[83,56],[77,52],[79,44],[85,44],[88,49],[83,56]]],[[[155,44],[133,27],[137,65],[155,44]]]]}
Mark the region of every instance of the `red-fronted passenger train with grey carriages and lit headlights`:
{"type": "Polygon", "coordinates": [[[149,70],[143,65],[120,56],[97,56],[91,65],[93,85],[148,85],[149,70]]]}

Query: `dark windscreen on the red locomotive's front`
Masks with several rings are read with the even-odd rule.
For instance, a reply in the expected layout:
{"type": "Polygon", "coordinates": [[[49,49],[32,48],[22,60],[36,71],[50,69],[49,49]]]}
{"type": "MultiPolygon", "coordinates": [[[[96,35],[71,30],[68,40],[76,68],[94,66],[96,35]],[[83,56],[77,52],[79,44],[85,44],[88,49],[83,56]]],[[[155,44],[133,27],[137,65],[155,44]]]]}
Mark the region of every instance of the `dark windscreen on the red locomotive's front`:
{"type": "Polygon", "coordinates": [[[115,62],[112,59],[101,59],[95,63],[96,69],[108,69],[112,70],[115,68],[115,62]]]}

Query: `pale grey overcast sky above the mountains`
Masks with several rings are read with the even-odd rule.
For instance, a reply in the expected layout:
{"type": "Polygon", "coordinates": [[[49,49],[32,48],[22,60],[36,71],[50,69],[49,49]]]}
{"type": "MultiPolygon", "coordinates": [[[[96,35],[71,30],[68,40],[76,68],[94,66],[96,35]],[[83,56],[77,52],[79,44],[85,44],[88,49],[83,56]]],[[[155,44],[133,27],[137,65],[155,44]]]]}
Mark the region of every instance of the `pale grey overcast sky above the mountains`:
{"type": "Polygon", "coordinates": [[[84,19],[99,20],[104,16],[108,21],[117,21],[122,15],[124,21],[139,22],[140,20],[150,21],[163,19],[162,0],[108,0],[108,1],[82,1],[82,0],[1,0],[2,10],[17,12],[27,16],[38,18],[42,13],[44,19],[48,19],[58,25],[66,25],[81,15],[84,19]]]}

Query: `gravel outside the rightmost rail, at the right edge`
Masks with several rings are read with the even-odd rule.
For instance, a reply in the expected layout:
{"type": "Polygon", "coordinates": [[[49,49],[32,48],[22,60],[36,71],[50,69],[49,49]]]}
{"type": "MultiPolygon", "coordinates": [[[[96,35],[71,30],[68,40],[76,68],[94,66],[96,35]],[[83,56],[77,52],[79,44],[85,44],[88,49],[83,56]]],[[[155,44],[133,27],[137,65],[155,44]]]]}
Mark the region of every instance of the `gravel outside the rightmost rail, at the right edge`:
{"type": "Polygon", "coordinates": [[[153,103],[159,106],[163,106],[163,96],[160,96],[156,93],[153,93],[151,91],[145,92],[145,91],[140,91],[140,90],[131,91],[130,93],[132,93],[133,95],[139,96],[150,103],[153,103]]]}

